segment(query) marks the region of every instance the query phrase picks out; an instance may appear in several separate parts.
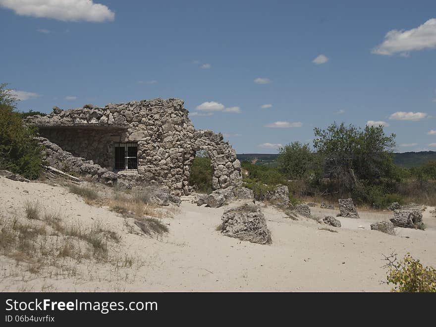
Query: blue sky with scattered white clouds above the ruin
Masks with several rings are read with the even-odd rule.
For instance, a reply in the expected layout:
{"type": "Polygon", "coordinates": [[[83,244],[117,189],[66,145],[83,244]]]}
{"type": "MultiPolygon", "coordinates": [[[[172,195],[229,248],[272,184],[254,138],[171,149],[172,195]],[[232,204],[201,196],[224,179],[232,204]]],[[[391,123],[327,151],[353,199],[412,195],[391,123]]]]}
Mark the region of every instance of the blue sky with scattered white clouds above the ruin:
{"type": "Polygon", "coordinates": [[[436,150],[434,0],[0,0],[0,28],[19,110],[180,98],[238,153],[333,121],[436,150]]]}

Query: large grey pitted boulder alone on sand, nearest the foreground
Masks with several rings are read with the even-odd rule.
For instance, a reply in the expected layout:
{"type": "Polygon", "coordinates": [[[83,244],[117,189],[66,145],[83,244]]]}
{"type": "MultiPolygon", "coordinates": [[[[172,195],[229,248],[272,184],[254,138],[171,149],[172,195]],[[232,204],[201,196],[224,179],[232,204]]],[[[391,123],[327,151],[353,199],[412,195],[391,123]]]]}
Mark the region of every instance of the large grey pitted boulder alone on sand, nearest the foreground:
{"type": "Polygon", "coordinates": [[[259,205],[245,203],[228,209],[224,211],[221,220],[223,235],[252,243],[272,243],[267,221],[259,205]]]}

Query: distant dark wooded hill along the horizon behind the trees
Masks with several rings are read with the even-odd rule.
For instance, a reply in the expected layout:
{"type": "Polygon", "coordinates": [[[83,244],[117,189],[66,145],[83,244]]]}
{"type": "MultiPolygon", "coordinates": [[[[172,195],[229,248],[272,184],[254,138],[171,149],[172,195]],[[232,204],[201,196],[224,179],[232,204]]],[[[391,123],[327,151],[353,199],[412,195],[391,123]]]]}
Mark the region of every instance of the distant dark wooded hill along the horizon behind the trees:
{"type": "MultiPolygon", "coordinates": [[[[237,154],[240,161],[253,161],[255,158],[258,165],[277,165],[278,154],[265,153],[241,153],[237,154]]],[[[422,166],[429,160],[436,160],[436,151],[403,152],[394,153],[393,162],[395,165],[405,168],[422,166]]]]}

